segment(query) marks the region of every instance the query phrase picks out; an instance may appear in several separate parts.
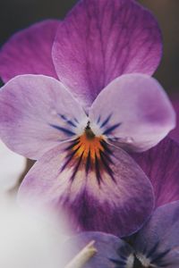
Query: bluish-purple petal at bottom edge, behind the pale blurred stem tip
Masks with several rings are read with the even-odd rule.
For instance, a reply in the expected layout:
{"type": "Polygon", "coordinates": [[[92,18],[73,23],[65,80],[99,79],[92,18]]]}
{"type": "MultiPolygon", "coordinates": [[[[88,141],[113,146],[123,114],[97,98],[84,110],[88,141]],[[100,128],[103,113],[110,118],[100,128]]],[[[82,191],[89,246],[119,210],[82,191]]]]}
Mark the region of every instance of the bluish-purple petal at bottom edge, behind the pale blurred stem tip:
{"type": "MultiPolygon", "coordinates": [[[[90,261],[82,266],[83,268],[111,268],[114,265],[126,267],[126,260],[132,254],[132,247],[127,245],[122,239],[98,231],[82,232],[80,235],[72,237],[64,243],[64,248],[68,248],[71,258],[77,255],[83,247],[94,241],[97,253],[91,257],[90,261]],[[119,255],[121,253],[121,255],[119,255]]],[[[118,267],[118,266],[117,266],[118,267]]]]}

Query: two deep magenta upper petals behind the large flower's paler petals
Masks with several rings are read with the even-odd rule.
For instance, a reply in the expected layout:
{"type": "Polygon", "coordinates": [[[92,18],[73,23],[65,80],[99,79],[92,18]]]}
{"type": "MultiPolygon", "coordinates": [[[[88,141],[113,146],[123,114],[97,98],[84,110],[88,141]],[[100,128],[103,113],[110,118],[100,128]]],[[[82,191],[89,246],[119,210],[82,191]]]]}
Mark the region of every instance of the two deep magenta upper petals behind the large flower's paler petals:
{"type": "Polygon", "coordinates": [[[10,38],[0,53],[0,76],[5,82],[28,73],[58,78],[87,109],[120,75],[153,74],[161,54],[158,22],[140,4],[83,0],[64,21],[43,21],[10,38]]]}

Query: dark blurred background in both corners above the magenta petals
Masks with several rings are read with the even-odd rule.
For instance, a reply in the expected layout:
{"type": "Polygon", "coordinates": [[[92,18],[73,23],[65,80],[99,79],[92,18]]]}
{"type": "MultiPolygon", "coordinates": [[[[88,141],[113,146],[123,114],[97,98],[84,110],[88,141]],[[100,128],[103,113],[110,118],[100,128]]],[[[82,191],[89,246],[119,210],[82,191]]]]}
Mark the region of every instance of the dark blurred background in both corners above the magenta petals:
{"type": "MultiPolygon", "coordinates": [[[[110,1],[110,0],[109,0],[110,1]]],[[[0,45],[36,21],[64,18],[77,0],[0,0],[0,45]]],[[[155,76],[170,94],[179,94],[179,0],[140,0],[158,19],[164,56],[155,76]]]]}

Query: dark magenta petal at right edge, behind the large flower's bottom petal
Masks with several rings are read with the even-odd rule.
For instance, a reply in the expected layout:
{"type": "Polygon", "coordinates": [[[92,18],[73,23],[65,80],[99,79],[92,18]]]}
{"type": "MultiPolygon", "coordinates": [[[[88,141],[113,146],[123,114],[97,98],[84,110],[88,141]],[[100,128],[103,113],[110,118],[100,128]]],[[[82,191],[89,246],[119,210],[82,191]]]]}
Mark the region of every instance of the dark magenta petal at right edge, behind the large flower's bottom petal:
{"type": "Polygon", "coordinates": [[[170,138],[142,154],[132,154],[154,188],[156,206],[179,200],[179,145],[170,138]]]}

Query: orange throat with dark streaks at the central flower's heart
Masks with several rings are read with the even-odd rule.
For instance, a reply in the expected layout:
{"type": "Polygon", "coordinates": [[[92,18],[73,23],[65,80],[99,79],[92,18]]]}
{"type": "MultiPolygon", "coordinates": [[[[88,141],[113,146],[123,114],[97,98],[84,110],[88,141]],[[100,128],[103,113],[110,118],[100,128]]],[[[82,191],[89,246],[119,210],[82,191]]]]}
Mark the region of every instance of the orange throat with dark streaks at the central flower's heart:
{"type": "Polygon", "coordinates": [[[72,168],[72,178],[74,180],[76,173],[85,169],[86,173],[95,172],[98,183],[100,183],[103,172],[114,179],[113,171],[110,167],[112,160],[112,151],[108,147],[107,141],[101,136],[96,136],[90,129],[90,123],[84,130],[84,133],[73,139],[70,146],[65,148],[67,153],[64,166],[65,168],[72,168]]]}

